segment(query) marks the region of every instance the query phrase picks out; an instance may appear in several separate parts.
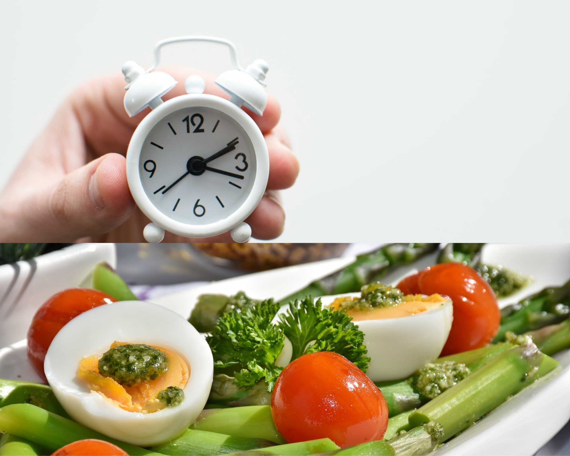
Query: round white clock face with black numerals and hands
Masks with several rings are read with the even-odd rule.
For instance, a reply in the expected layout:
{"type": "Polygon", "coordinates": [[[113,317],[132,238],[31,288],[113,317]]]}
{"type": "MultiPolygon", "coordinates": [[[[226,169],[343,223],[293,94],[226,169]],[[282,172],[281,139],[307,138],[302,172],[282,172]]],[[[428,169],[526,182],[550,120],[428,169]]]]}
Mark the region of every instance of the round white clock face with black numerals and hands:
{"type": "Polygon", "coordinates": [[[162,117],[144,140],[144,193],[167,217],[207,225],[229,217],[249,196],[257,161],[253,144],[229,115],[190,107],[162,117]]]}

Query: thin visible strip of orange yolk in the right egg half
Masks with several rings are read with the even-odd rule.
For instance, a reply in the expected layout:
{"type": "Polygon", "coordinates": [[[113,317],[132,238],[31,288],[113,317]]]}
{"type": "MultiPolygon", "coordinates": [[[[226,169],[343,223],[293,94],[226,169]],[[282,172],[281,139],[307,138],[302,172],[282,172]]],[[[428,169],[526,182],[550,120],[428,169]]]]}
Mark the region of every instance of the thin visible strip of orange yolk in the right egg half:
{"type": "MultiPolygon", "coordinates": [[[[407,299],[404,302],[401,302],[393,307],[378,307],[372,310],[364,311],[357,309],[347,309],[345,312],[355,321],[379,320],[420,314],[420,312],[425,312],[427,310],[442,306],[443,303],[446,302],[446,299],[438,294],[431,296],[406,295],[405,298],[407,299]]],[[[340,298],[335,299],[329,307],[333,308],[334,310],[339,310],[340,304],[345,302],[347,299],[358,300],[360,298],[357,298],[355,296],[341,296],[340,298]]]]}

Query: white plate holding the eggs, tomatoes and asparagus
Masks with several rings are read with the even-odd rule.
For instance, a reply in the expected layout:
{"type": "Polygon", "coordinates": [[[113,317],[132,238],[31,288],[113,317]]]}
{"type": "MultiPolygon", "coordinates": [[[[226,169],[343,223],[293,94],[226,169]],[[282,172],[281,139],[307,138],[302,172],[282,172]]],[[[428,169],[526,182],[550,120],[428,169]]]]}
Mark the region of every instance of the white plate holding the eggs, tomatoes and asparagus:
{"type": "MultiPolygon", "coordinates": [[[[487,245],[483,260],[534,277],[534,282],[518,295],[500,300],[501,307],[570,278],[570,245],[487,245]]],[[[332,259],[258,272],[160,296],[152,302],[188,317],[197,296],[204,293],[233,294],[243,290],[253,298],[280,299],[352,261],[332,259]]],[[[435,254],[428,255],[413,267],[385,276],[384,282],[396,284],[434,261],[435,254]]],[[[570,352],[561,352],[556,358],[561,367],[551,376],[524,389],[433,454],[536,453],[570,418],[570,352]]],[[[0,349],[0,378],[38,381],[26,358],[25,341],[0,349]]]]}

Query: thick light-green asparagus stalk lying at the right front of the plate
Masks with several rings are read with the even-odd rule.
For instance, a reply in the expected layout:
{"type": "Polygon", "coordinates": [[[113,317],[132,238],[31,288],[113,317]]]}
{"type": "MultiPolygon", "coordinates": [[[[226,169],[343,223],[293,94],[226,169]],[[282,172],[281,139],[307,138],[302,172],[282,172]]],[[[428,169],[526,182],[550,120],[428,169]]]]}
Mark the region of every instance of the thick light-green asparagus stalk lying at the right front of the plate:
{"type": "MultiPolygon", "coordinates": [[[[538,380],[545,355],[534,344],[501,353],[457,385],[421,406],[408,418],[413,428],[431,422],[442,426],[443,442],[490,412],[524,386],[538,380]]],[[[557,363],[556,363],[557,364],[557,363]]],[[[556,365],[553,364],[553,365],[556,365]]],[[[551,367],[551,366],[549,366],[551,367]]]]}

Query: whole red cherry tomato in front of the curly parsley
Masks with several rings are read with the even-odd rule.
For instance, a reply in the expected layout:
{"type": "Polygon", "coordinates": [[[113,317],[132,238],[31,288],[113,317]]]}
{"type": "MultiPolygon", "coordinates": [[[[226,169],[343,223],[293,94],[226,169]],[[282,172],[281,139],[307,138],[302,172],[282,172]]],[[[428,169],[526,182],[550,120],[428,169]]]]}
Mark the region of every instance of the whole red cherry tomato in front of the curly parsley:
{"type": "Polygon", "coordinates": [[[277,378],[271,415],[287,442],[330,438],[340,447],[380,440],[388,405],[380,389],[344,356],[308,353],[277,378]]]}

